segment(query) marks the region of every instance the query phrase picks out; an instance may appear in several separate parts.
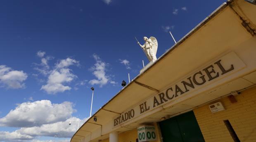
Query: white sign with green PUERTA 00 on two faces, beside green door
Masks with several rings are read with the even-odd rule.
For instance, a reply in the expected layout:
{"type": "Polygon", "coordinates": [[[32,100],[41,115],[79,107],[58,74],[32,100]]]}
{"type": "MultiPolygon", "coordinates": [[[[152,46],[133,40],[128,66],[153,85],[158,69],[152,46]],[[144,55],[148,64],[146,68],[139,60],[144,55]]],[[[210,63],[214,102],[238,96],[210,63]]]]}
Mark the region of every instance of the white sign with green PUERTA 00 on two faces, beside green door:
{"type": "Polygon", "coordinates": [[[156,129],[155,126],[141,126],[137,128],[139,142],[155,141],[156,129]]]}

